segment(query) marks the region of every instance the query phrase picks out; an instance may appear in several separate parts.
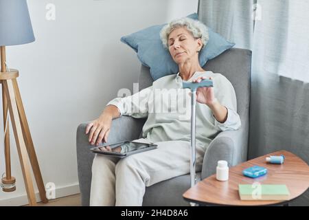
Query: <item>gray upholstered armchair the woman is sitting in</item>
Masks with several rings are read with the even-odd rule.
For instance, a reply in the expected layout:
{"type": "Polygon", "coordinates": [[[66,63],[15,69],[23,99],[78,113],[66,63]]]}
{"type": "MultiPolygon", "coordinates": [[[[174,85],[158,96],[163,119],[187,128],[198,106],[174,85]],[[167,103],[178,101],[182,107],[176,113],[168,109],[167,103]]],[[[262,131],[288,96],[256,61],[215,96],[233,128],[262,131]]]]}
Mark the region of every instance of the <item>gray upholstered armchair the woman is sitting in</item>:
{"type": "MultiPolygon", "coordinates": [[[[238,114],[242,126],[238,131],[222,131],[210,143],[205,152],[203,168],[196,177],[204,179],[216,173],[216,163],[224,159],[229,166],[235,166],[247,160],[249,137],[249,106],[250,106],[250,76],[251,51],[232,48],[212,59],[203,67],[214,73],[220,73],[229,79],[236,91],[238,114]]],[[[141,67],[139,75],[139,89],[152,85],[148,67],[141,67]]],[[[130,116],[121,116],[113,120],[108,142],[121,140],[135,140],[141,137],[141,129],[145,119],[135,119],[130,116]]],[[[77,129],[76,146],[78,159],[78,179],[82,206],[89,206],[91,186],[92,146],[84,131],[87,122],[80,124],[77,129]]],[[[146,188],[143,206],[188,206],[189,203],[182,197],[183,192],[190,188],[190,174],[161,181],[146,188]]]]}

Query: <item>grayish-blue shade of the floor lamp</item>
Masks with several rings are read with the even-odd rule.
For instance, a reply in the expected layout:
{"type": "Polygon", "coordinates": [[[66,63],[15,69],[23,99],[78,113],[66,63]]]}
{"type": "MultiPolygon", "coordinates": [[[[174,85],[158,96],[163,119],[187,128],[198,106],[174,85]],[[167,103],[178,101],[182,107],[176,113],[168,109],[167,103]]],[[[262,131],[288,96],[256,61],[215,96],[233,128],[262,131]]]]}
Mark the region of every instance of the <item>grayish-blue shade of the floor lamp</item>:
{"type": "Polygon", "coordinates": [[[20,45],[34,40],[27,1],[0,0],[0,45],[20,45]]]}

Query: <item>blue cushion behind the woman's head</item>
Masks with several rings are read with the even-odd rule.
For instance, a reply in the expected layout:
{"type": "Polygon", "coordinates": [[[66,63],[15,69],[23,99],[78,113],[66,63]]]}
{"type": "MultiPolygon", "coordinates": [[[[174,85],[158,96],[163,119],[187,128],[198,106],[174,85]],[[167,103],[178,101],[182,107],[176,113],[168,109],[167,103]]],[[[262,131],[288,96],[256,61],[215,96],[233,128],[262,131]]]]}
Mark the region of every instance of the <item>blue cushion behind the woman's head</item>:
{"type": "MultiPolygon", "coordinates": [[[[190,14],[187,17],[198,20],[198,14],[196,13],[190,14]]],[[[126,43],[137,52],[137,57],[143,65],[150,67],[150,74],[154,80],[179,72],[178,65],[173,61],[170,52],[163,47],[160,39],[160,31],[164,25],[154,25],[139,32],[122,36],[120,39],[120,41],[126,43]]],[[[225,40],[220,34],[211,30],[211,28],[208,28],[208,32],[209,41],[199,54],[201,67],[207,61],[235,45],[235,43],[225,40]]]]}

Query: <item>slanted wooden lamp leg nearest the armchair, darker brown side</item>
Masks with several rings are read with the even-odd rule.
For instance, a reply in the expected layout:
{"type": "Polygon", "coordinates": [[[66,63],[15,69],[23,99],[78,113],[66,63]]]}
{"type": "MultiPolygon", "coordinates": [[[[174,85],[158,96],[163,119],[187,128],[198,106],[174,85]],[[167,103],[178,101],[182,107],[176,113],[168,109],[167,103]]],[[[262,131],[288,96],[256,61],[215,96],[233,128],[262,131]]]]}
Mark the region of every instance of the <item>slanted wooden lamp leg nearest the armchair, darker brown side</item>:
{"type": "Polygon", "coordinates": [[[38,186],[38,192],[40,193],[41,201],[43,203],[47,203],[48,199],[46,198],[46,190],[43,183],[40,166],[38,166],[38,159],[36,157],[36,151],[34,149],[34,144],[32,142],[29,125],[25,115],[25,109],[23,108],[23,101],[21,100],[21,93],[19,92],[19,86],[17,84],[16,78],[12,79],[12,83],[15,92],[16,104],[19,111],[19,118],[21,119],[21,129],[23,131],[25,145],[30,158],[30,163],[32,166],[34,177],[36,179],[36,185],[38,186]]]}

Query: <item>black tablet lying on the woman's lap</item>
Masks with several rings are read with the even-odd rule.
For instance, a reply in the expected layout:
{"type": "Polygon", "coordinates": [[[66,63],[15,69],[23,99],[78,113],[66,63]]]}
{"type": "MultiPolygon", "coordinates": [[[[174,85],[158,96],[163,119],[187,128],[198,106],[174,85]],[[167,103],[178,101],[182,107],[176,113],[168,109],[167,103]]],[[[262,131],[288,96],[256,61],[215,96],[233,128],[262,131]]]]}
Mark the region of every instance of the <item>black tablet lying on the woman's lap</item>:
{"type": "Polygon", "coordinates": [[[100,153],[103,155],[115,156],[115,157],[126,157],[134,153],[141,153],[157,148],[157,144],[147,144],[133,141],[122,141],[113,144],[103,144],[91,148],[93,153],[100,153]]]}

